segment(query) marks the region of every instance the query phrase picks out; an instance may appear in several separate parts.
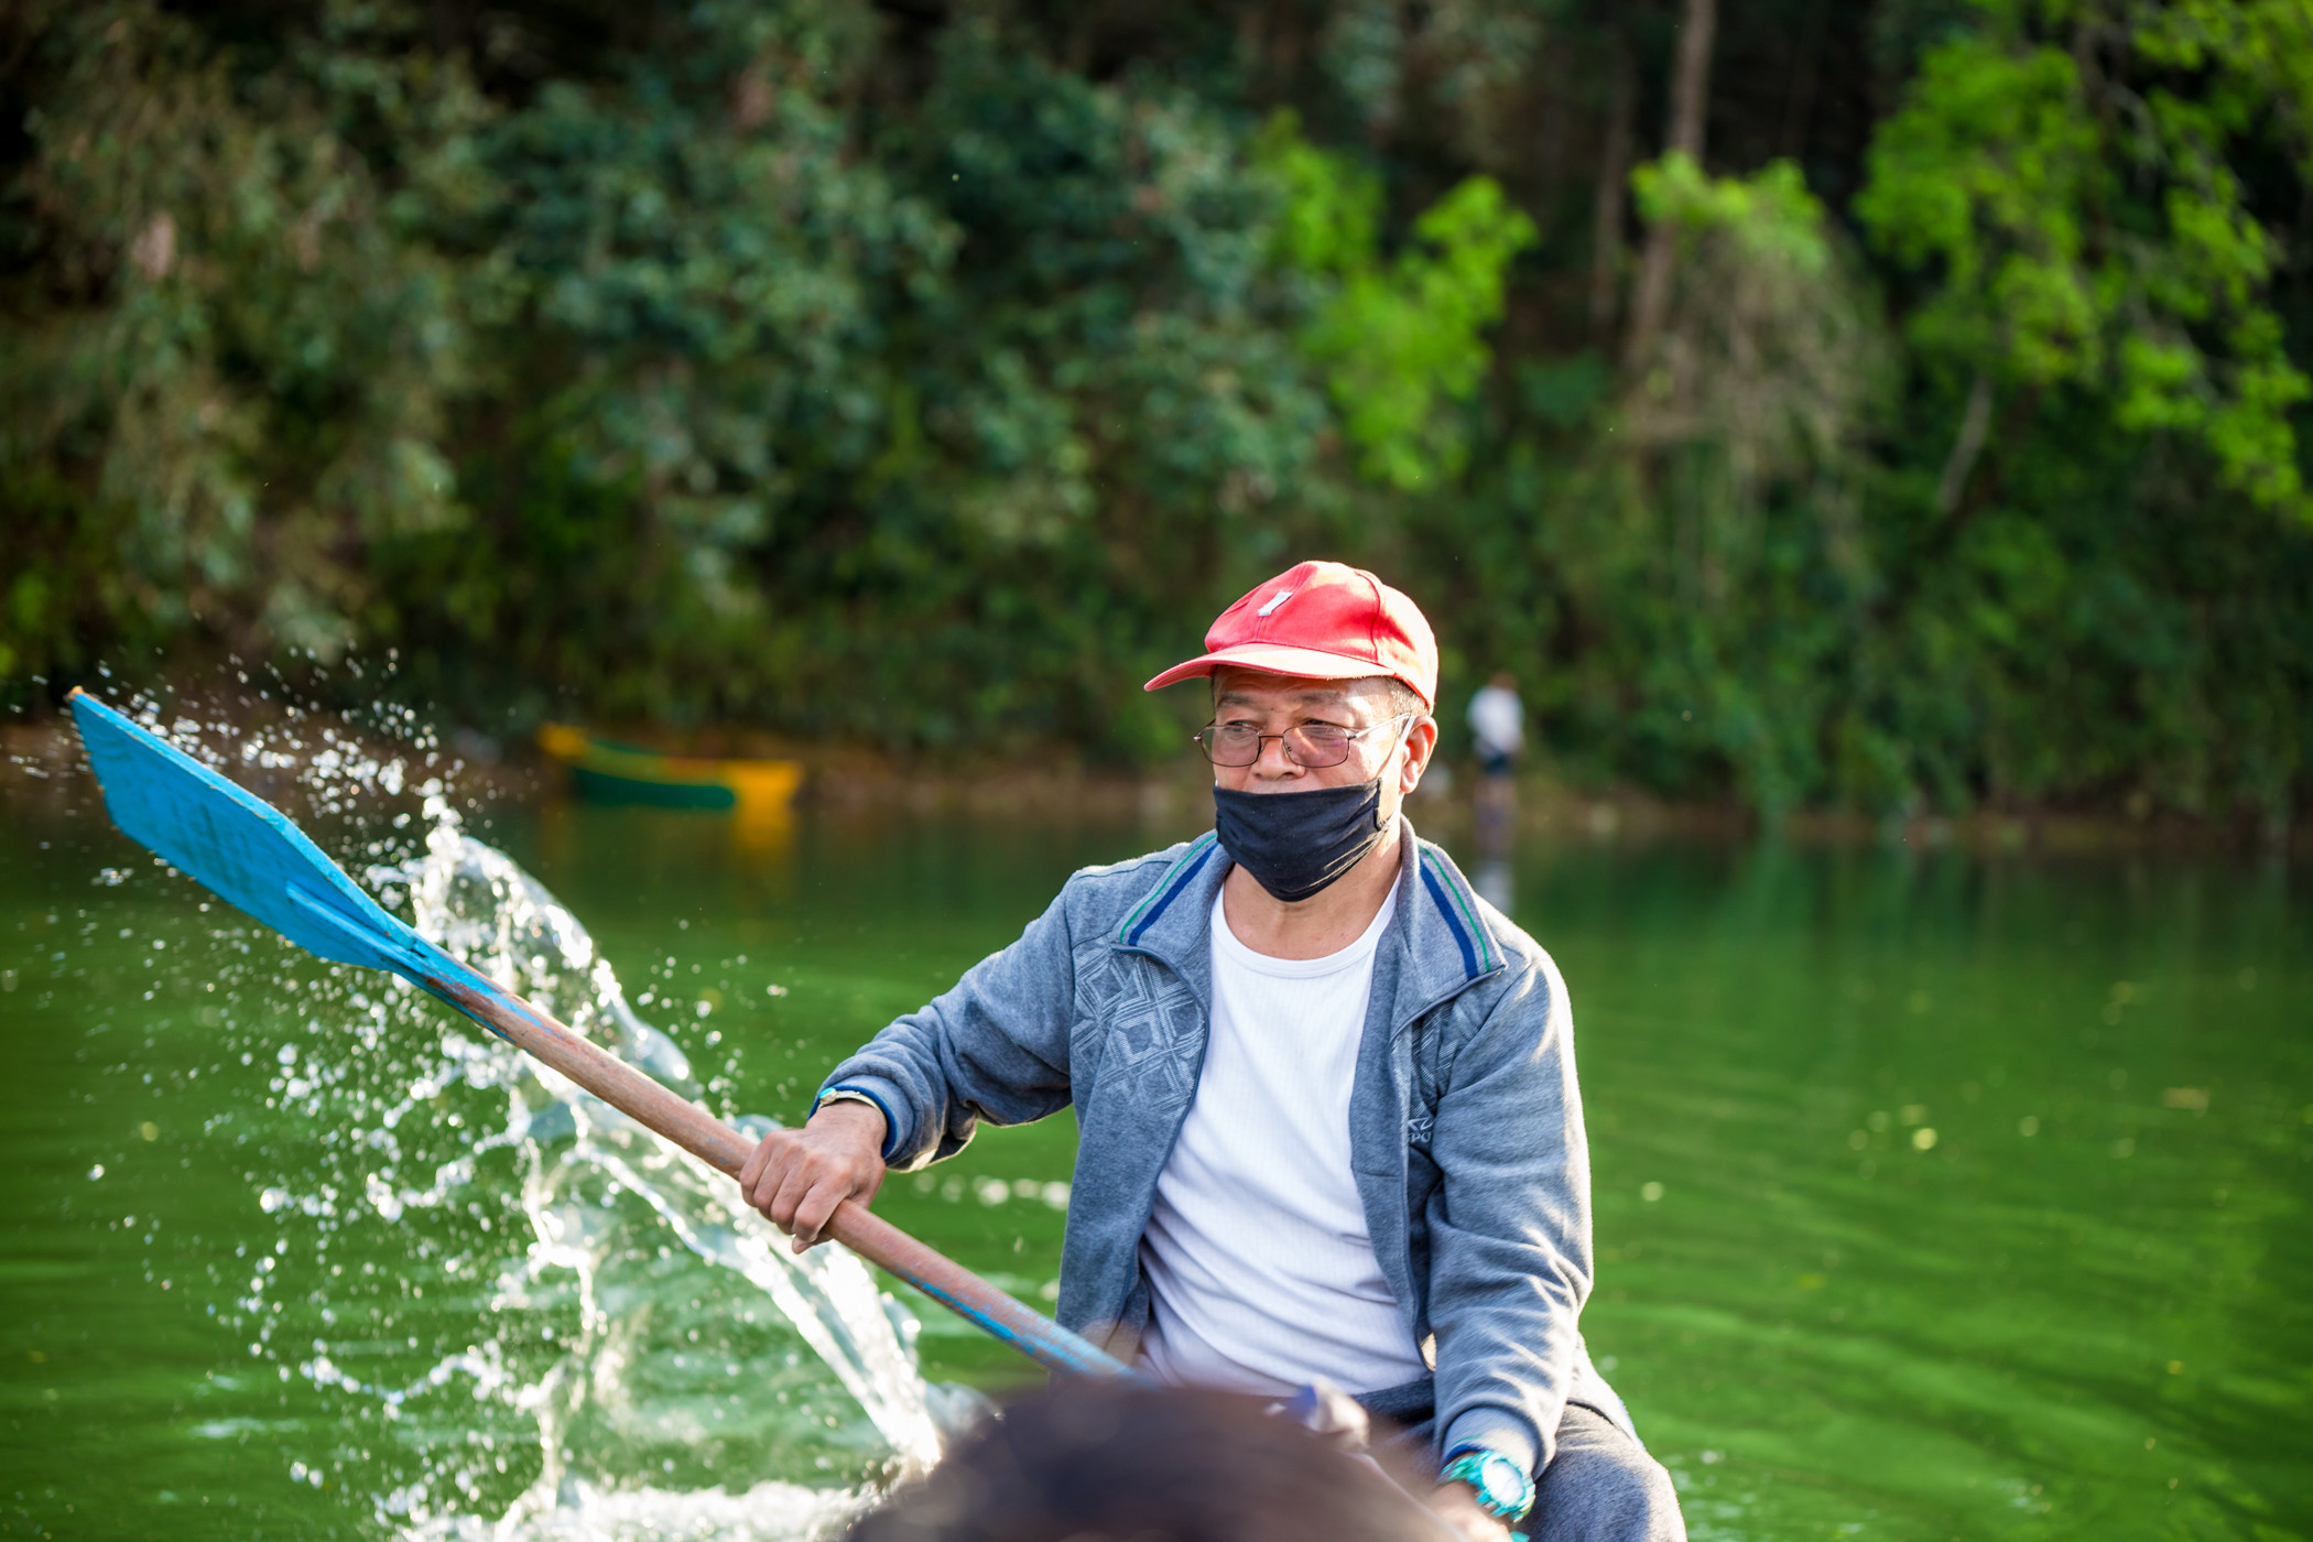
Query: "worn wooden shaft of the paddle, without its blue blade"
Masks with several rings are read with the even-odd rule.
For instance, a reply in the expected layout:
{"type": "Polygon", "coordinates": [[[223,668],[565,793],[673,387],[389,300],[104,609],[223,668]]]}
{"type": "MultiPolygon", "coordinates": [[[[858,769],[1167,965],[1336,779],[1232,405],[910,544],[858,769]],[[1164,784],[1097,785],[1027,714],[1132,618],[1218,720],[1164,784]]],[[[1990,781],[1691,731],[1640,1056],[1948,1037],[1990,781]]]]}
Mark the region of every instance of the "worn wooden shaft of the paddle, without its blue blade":
{"type": "MultiPolygon", "coordinates": [[[[599,1045],[571,1033],[520,996],[483,996],[456,980],[439,978],[423,980],[423,985],[532,1059],[553,1066],[618,1112],[657,1130],[717,1172],[738,1177],[738,1170],[754,1151],[752,1140],[715,1114],[673,1094],[599,1045]]],[[[934,1253],[891,1221],[872,1214],[865,1204],[851,1200],[837,1204],[826,1235],[1055,1371],[1071,1376],[1133,1376],[1092,1341],[1064,1329],[1043,1313],[1029,1311],[971,1269],[934,1253]]]]}

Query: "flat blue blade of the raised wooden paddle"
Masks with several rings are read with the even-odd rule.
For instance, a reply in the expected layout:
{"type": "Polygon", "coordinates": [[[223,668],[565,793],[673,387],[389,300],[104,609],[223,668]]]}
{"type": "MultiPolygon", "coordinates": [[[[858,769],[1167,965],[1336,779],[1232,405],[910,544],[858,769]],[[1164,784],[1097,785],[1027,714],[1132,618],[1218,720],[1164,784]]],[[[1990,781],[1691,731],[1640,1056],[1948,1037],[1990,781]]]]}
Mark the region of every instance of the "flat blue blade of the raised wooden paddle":
{"type": "Polygon", "coordinates": [[[338,964],[389,969],[458,1010],[465,1010],[460,989],[511,1006],[495,980],[449,957],[363,895],[273,805],[88,691],[72,694],[72,714],[88,761],[97,768],[104,807],[123,835],[201,881],[234,909],[247,911],[308,952],[338,964]]]}

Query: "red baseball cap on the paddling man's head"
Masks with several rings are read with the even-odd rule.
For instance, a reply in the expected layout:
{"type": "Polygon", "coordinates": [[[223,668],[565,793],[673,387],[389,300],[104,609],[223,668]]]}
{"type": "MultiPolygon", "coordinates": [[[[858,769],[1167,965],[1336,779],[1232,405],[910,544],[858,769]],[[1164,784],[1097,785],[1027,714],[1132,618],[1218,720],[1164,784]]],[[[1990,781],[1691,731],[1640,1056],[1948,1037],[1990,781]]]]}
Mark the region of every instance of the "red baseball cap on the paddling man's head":
{"type": "Polygon", "coordinates": [[[1404,680],[1425,707],[1439,700],[1439,643],[1420,606],[1365,569],[1302,562],[1254,590],[1205,633],[1205,654],[1175,663],[1145,691],[1224,666],[1305,680],[1404,680]]]}

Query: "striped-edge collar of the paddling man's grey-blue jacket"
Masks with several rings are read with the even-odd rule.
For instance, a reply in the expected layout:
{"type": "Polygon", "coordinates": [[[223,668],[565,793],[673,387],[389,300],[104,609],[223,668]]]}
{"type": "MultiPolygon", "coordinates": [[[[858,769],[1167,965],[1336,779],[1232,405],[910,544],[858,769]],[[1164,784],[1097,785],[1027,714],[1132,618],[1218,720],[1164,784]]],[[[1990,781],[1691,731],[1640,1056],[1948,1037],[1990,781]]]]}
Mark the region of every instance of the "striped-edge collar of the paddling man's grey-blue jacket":
{"type": "MultiPolygon", "coordinates": [[[[1404,818],[1404,816],[1399,816],[1404,818]]],[[[1501,939],[1478,909],[1462,869],[1404,823],[1397,858],[1397,915],[1383,936],[1395,955],[1392,1017],[1402,1024],[1501,969],[1501,939]]],[[[1110,934],[1119,948],[1147,952],[1189,980],[1210,1008],[1212,899],[1235,862],[1210,830],[1173,858],[1140,904],[1110,934]]]]}

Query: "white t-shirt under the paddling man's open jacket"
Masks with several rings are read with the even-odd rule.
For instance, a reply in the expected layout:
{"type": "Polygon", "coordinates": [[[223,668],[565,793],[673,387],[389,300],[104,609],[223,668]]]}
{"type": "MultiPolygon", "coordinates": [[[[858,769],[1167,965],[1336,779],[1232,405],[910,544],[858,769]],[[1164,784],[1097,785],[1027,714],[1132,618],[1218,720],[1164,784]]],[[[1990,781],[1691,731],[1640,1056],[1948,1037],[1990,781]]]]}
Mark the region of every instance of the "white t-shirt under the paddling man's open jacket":
{"type": "Polygon", "coordinates": [[[1161,1382],[1348,1392],[1427,1371],[1374,1262],[1348,1165],[1348,1089],[1397,909],[1323,959],[1272,959],[1212,899],[1212,1038],[1140,1239],[1152,1311],[1140,1366],[1161,1382]]]}

